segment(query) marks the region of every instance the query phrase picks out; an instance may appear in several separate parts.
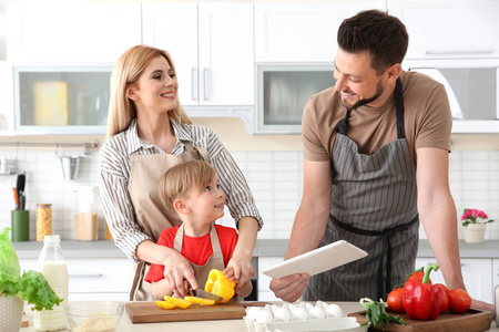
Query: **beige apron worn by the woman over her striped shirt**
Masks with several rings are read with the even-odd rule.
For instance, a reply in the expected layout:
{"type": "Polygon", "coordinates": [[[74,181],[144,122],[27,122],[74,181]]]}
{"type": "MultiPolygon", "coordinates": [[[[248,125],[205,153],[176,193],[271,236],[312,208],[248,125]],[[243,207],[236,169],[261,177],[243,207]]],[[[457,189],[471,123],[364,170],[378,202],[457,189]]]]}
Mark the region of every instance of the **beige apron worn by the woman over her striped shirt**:
{"type": "MultiPolygon", "coordinates": [[[[181,220],[166,210],[157,194],[157,183],[171,167],[192,159],[207,162],[210,154],[204,147],[194,147],[191,142],[182,142],[186,152],[180,155],[152,154],[140,155],[139,151],[131,155],[129,193],[135,210],[136,224],[141,231],[157,242],[160,234],[181,220]]],[[[135,276],[130,291],[131,301],[151,301],[151,284],[144,281],[150,263],[141,261],[135,266],[135,276]]]]}

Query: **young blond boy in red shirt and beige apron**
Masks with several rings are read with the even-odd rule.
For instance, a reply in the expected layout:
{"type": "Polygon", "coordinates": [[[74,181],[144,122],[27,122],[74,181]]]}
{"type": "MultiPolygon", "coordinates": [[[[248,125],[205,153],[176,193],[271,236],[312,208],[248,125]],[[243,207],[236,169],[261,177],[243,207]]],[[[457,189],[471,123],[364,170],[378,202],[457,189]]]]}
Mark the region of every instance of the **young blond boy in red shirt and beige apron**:
{"type": "MultiPolygon", "coordinates": [[[[165,172],[157,189],[166,209],[182,220],[182,225],[165,229],[157,245],[181,252],[191,262],[202,288],[212,269],[225,269],[237,243],[235,229],[214,224],[224,216],[225,206],[215,168],[206,162],[182,163],[165,172]]],[[[144,280],[152,283],[155,299],[173,293],[164,278],[164,266],[151,264],[144,280]]],[[[252,284],[247,283],[238,295],[247,297],[251,292],[252,284]]]]}

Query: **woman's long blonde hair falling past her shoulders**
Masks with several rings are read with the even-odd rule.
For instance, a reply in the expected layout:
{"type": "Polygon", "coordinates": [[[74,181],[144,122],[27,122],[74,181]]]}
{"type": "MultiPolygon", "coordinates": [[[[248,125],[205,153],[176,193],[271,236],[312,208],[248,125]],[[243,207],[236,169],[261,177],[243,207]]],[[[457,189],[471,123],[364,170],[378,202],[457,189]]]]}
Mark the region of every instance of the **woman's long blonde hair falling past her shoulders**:
{"type": "MultiPolygon", "coordinates": [[[[132,120],[136,117],[135,104],[126,96],[126,86],[135,83],[147,64],[156,56],[166,59],[173,72],[176,73],[172,58],[166,51],[146,45],[135,45],[126,50],[114,64],[111,74],[108,138],[126,129],[132,120]]],[[[179,124],[192,123],[180,103],[169,115],[179,124]]]]}

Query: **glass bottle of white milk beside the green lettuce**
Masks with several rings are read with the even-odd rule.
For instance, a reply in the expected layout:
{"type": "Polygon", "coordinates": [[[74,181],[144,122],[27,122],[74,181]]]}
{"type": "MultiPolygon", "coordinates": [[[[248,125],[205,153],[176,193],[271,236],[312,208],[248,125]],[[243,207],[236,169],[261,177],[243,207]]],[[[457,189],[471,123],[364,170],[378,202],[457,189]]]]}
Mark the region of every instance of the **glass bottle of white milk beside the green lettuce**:
{"type": "Polygon", "coordinates": [[[38,270],[45,277],[50,287],[63,301],[53,310],[35,311],[33,325],[38,331],[58,331],[67,328],[64,305],[68,303],[68,267],[62,256],[58,235],[45,235],[43,249],[38,260],[38,270]]]}

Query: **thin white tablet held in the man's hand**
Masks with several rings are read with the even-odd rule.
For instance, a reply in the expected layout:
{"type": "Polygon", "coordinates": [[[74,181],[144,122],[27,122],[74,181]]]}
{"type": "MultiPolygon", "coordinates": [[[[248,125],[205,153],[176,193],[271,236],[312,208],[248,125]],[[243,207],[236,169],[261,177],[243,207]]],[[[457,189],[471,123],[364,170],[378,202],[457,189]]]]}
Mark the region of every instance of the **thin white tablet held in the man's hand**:
{"type": "Polygon", "coordinates": [[[266,268],[262,273],[274,279],[294,273],[307,273],[312,277],[366,256],[367,252],[363,249],[339,240],[266,268]]]}

